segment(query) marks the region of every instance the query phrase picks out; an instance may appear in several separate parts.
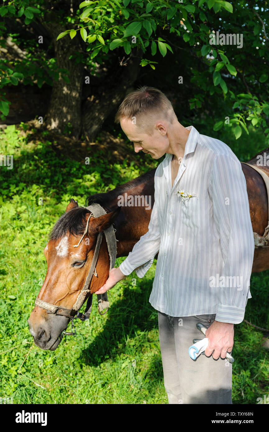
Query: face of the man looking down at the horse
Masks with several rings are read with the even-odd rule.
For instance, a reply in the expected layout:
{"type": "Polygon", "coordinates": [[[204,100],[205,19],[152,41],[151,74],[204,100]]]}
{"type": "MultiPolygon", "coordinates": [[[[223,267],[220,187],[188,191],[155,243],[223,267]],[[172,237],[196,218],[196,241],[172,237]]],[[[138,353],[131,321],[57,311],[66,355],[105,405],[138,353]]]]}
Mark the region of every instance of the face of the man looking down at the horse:
{"type": "Polygon", "coordinates": [[[142,150],[153,159],[159,159],[167,152],[169,140],[166,127],[162,122],[157,122],[154,127],[151,126],[151,135],[147,133],[146,129],[139,130],[136,124],[126,118],[121,119],[121,127],[127,138],[134,143],[136,153],[142,150]]]}

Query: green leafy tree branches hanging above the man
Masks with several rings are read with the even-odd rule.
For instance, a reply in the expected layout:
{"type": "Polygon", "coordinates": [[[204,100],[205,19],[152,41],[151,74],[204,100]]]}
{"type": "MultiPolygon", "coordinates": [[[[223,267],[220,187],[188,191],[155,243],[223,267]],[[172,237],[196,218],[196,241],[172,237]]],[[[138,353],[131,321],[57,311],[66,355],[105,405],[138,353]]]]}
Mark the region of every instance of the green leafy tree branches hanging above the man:
{"type": "MultiPolygon", "coordinates": [[[[266,14],[267,1],[246,4],[220,0],[95,0],[74,2],[72,11],[67,1],[42,0],[39,5],[31,0],[4,1],[0,8],[0,32],[3,44],[7,17],[19,19],[29,28],[34,22],[52,21],[58,24],[58,37],[51,38],[51,44],[58,44],[62,38],[80,38],[85,55],[74,60],[90,66],[91,73],[95,73],[96,64],[111,62],[114,51],[123,57],[120,66],[132,56],[140,56],[141,68],[153,70],[157,68],[158,56],[164,62],[169,57],[174,63],[170,68],[178,67],[180,58],[190,76],[192,97],[188,103],[194,115],[202,115],[209,106],[214,111],[214,130],[227,125],[239,138],[242,130],[248,133],[252,124],[262,128],[269,141],[266,14]],[[217,32],[220,36],[235,35],[235,39],[230,39],[234,43],[225,43],[225,38],[224,43],[212,43],[214,38],[217,41],[217,32]],[[225,109],[215,111],[214,104],[225,109]]],[[[11,37],[19,44],[18,34],[11,37]]],[[[48,52],[36,54],[36,45],[37,41],[27,47],[26,58],[16,64],[1,62],[0,89],[16,85],[19,80],[36,81],[38,86],[52,85],[59,74],[64,76],[61,65],[48,52]]],[[[68,71],[65,79],[68,80],[68,71]]],[[[7,115],[8,109],[2,93],[0,111],[7,115]]]]}

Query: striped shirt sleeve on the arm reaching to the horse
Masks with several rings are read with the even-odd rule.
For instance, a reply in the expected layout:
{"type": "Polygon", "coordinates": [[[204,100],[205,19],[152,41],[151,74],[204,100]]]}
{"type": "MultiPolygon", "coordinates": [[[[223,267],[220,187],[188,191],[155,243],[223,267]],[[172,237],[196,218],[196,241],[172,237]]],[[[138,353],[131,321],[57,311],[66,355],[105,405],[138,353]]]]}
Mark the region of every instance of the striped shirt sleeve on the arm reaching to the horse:
{"type": "Polygon", "coordinates": [[[134,245],[128,257],[119,265],[119,269],[125,276],[136,269],[136,274],[142,278],[151,267],[154,257],[160,248],[160,231],[158,226],[156,200],[151,211],[151,220],[148,231],[142,235],[134,245]]]}

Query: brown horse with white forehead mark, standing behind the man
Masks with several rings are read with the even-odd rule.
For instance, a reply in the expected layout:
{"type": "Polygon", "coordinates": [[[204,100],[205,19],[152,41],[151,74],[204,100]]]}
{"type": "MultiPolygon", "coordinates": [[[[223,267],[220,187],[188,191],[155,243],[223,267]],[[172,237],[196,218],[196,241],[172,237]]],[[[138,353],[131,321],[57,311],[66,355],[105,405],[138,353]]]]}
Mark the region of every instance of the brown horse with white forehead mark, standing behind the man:
{"type": "MultiPolygon", "coordinates": [[[[267,149],[263,152],[266,152],[267,149]]],[[[263,152],[260,154],[263,155],[263,152]]],[[[256,155],[257,156],[257,155],[256,155]]],[[[256,156],[248,161],[256,164],[256,156]]],[[[268,221],[268,199],[266,185],[261,175],[248,165],[242,165],[246,178],[247,193],[250,204],[250,217],[253,232],[263,235],[268,221]]],[[[262,168],[269,174],[269,168],[262,168]]],[[[151,197],[151,208],[154,204],[154,173],[147,172],[133,181],[116,187],[105,194],[95,194],[87,199],[87,205],[99,203],[107,214],[91,217],[88,223],[86,238],[80,247],[74,249],[83,235],[90,212],[80,207],[71,199],[66,212],[58,220],[51,232],[44,254],[48,270],[38,298],[52,305],[61,305],[70,309],[81,291],[90,269],[96,238],[99,232],[107,229],[112,223],[117,239],[116,257],[125,257],[132,250],[139,238],[147,232],[151,210],[145,206],[118,207],[118,196],[151,197]]],[[[258,248],[254,252],[252,272],[260,272],[269,268],[269,247],[258,248]]],[[[96,292],[109,276],[109,253],[104,236],[96,264],[96,274],[90,283],[90,292],[96,292]]],[[[85,296],[85,300],[87,297],[85,296]]],[[[44,308],[35,306],[28,320],[30,333],[34,342],[42,349],[54,350],[61,341],[61,333],[66,330],[70,318],[48,314],[44,308]]]]}

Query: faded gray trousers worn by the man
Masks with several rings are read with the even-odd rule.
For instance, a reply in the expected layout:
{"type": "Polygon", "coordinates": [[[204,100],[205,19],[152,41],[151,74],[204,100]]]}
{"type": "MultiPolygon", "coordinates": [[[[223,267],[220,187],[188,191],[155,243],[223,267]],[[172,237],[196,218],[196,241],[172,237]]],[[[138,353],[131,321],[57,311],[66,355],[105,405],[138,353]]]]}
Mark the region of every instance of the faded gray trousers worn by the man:
{"type": "Polygon", "coordinates": [[[169,403],[231,404],[232,365],[226,359],[189,356],[192,339],[204,335],[196,324],[208,327],[216,314],[171,317],[158,311],[164,387],[169,403]]]}

